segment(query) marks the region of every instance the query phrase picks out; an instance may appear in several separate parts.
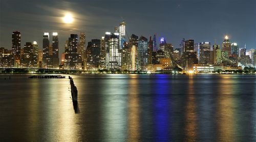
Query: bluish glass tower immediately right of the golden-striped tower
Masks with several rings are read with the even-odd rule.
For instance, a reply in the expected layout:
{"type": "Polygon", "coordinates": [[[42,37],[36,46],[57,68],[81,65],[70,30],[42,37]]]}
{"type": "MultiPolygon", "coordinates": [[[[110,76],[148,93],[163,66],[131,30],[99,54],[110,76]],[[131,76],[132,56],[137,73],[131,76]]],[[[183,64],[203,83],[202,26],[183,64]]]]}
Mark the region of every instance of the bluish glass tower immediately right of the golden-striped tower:
{"type": "Polygon", "coordinates": [[[138,41],[138,70],[146,71],[146,66],[148,64],[148,54],[147,54],[147,38],[141,36],[138,41]]]}

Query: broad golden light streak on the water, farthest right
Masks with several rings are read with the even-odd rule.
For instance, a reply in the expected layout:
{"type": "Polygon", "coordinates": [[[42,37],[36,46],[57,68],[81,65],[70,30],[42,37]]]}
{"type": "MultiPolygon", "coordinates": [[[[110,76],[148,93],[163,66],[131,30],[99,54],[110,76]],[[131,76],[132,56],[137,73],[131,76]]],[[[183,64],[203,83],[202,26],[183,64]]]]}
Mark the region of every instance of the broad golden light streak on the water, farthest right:
{"type": "Polygon", "coordinates": [[[221,78],[222,86],[219,87],[218,97],[218,140],[217,141],[232,141],[234,137],[234,114],[232,111],[233,100],[232,100],[232,80],[227,76],[221,78]]]}

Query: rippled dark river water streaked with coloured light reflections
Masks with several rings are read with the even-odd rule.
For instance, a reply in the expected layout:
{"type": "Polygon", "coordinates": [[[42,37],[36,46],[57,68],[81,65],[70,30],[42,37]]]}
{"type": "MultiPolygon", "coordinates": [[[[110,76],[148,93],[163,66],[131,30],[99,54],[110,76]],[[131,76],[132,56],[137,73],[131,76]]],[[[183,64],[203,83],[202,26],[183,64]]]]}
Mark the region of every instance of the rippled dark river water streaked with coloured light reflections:
{"type": "Polygon", "coordinates": [[[255,75],[72,77],[0,75],[0,141],[256,141],[255,75]]]}

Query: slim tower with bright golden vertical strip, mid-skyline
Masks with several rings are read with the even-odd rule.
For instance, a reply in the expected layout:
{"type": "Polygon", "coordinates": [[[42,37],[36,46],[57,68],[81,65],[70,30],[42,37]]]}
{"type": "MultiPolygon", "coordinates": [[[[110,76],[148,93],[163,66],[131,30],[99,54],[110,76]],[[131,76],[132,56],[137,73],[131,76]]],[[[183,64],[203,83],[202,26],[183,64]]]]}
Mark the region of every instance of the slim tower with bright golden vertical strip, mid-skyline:
{"type": "Polygon", "coordinates": [[[131,71],[138,70],[137,65],[137,50],[138,50],[138,36],[132,35],[130,38],[130,46],[131,46],[131,71]]]}

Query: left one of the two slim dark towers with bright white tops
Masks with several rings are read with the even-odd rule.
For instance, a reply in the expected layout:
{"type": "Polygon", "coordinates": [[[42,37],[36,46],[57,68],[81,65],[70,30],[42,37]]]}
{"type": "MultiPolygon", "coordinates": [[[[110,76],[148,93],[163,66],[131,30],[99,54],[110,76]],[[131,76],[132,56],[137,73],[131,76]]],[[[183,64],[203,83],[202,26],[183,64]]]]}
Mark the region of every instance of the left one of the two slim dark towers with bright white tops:
{"type": "Polygon", "coordinates": [[[49,47],[49,33],[44,33],[44,36],[42,36],[42,68],[49,68],[51,61],[49,47]]]}

